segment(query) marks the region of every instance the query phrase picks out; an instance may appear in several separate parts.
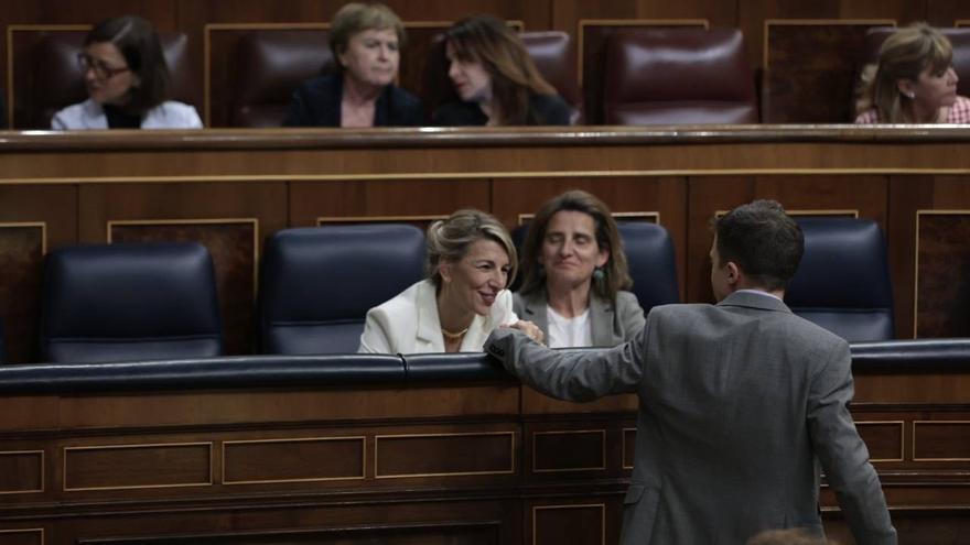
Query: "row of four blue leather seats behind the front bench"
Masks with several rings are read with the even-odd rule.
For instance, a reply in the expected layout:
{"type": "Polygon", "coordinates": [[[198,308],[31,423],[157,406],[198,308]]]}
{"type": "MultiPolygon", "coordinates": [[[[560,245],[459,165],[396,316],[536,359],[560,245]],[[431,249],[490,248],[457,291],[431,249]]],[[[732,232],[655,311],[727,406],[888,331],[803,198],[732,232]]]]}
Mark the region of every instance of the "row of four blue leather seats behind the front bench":
{"type": "MultiPolygon", "coordinates": [[[[849,340],[893,337],[885,242],[876,224],[799,219],[806,254],[787,301],[849,340]]],[[[679,301],[673,247],[662,227],[621,222],[645,310],[679,301]]],[[[266,244],[261,350],[354,352],[364,317],[422,275],[424,236],[408,225],[278,231],[266,244]]],[[[47,258],[41,358],[78,363],[223,355],[212,259],[194,242],[82,246],[47,258]]]]}

